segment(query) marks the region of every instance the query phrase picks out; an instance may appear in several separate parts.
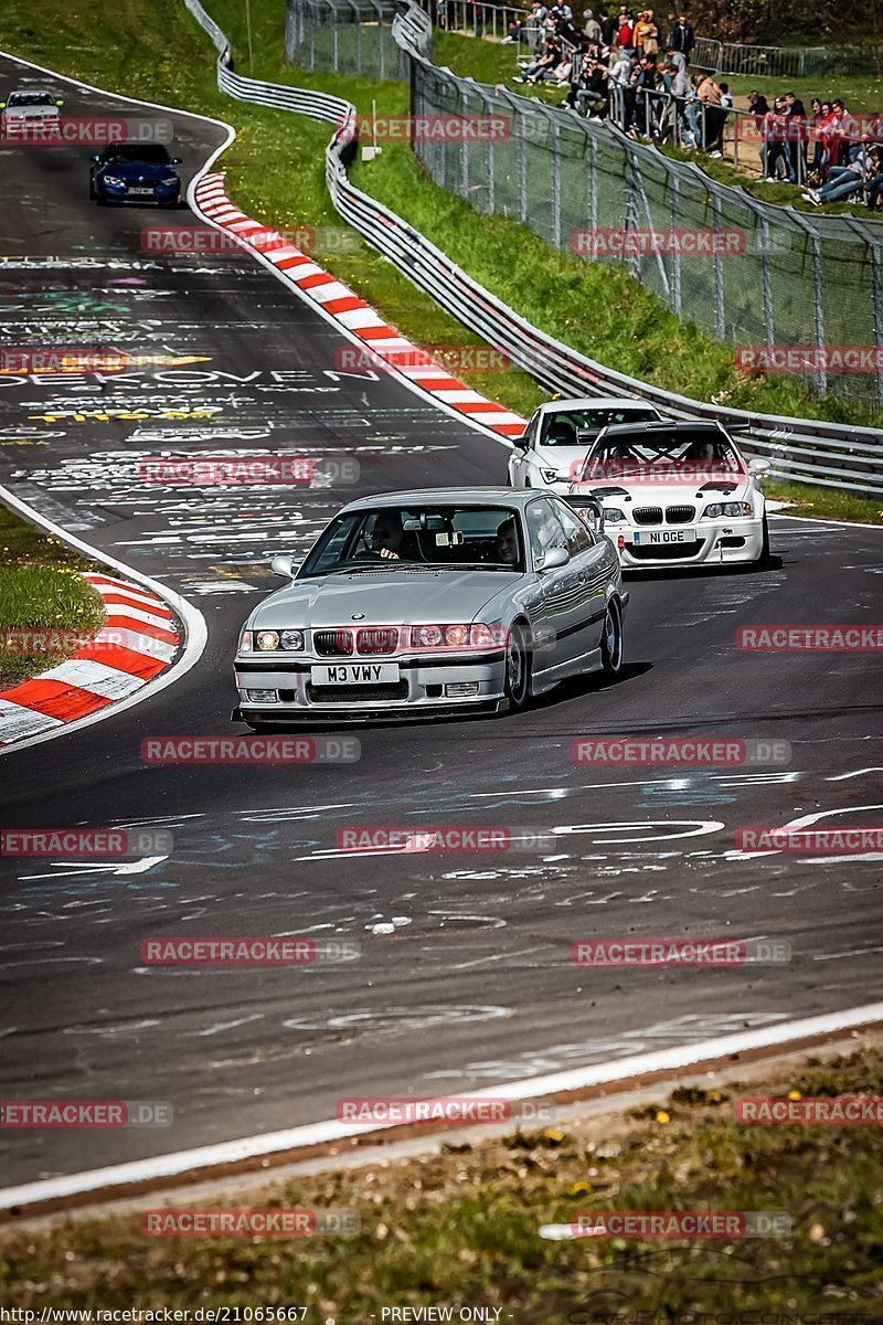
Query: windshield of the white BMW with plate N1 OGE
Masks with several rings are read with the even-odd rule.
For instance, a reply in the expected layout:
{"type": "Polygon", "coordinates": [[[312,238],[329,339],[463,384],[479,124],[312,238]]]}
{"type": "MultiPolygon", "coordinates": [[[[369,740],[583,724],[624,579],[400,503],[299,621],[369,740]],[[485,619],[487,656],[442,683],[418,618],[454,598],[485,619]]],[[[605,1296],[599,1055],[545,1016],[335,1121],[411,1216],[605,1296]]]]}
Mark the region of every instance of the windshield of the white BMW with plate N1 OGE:
{"type": "Polygon", "coordinates": [[[585,457],[581,481],[736,482],[744,472],[739,452],[723,433],[679,428],[602,437],[585,457]]]}

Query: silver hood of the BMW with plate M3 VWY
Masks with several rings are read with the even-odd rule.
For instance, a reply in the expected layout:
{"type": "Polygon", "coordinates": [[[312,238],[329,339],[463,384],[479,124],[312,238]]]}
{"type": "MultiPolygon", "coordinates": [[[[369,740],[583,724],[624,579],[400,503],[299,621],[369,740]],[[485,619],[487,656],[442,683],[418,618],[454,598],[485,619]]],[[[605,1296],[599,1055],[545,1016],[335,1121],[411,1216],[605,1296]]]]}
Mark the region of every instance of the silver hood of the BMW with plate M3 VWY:
{"type": "Polygon", "coordinates": [[[520,571],[356,571],[293,580],[256,610],[252,623],[267,627],[422,625],[471,621],[520,571]]]}

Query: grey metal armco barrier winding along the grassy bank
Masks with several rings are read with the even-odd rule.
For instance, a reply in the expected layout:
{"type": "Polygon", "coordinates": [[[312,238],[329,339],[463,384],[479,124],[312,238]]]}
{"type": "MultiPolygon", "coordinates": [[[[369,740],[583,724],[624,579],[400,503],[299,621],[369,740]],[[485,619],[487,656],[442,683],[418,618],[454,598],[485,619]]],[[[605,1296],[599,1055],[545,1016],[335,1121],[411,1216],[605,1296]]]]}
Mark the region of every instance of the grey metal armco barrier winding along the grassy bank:
{"type": "MultiPolygon", "coordinates": [[[[772,474],[778,478],[841,488],[866,497],[883,496],[883,433],[878,428],[760,415],[691,400],[605,368],[531,326],[400,216],[355,188],[346,167],[356,134],[356,111],[349,102],[234,74],[229,69],[229,42],[217,24],[199,0],[185,0],[185,4],[218,50],[218,87],[241,101],[335,122],[338,127],[326,148],[326,180],[340,216],[414,285],[470,330],[506,351],[549,391],[563,395],[609,395],[613,391],[651,400],[675,419],[718,420],[744,435],[743,449],[768,458],[772,474]]],[[[429,38],[429,20],[414,4],[406,5],[393,26],[401,44],[412,50],[429,38]]],[[[883,327],[878,341],[883,343],[883,327]]]]}

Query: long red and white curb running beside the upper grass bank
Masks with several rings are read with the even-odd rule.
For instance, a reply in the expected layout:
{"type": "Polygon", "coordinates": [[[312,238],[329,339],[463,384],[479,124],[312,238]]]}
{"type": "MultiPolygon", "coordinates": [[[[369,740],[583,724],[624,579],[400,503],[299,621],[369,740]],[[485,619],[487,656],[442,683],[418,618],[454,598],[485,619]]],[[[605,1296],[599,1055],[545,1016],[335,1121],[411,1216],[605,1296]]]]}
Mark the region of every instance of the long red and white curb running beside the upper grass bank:
{"type": "Polygon", "coordinates": [[[224,189],[224,174],[204,175],[193,189],[196,204],[221,229],[229,231],[245,248],[259,253],[291,285],[320,310],[361,341],[372,356],[383,359],[432,399],[466,415],[499,437],[520,436],[524,420],[494,400],[479,395],[438,363],[426,351],[400,335],[347,285],[324,272],[277,231],[252,220],[234,207],[224,189]],[[413,358],[413,363],[408,359],[413,358]],[[405,360],[402,363],[402,359],[405,360]],[[422,360],[422,362],[421,362],[422,360]]]}

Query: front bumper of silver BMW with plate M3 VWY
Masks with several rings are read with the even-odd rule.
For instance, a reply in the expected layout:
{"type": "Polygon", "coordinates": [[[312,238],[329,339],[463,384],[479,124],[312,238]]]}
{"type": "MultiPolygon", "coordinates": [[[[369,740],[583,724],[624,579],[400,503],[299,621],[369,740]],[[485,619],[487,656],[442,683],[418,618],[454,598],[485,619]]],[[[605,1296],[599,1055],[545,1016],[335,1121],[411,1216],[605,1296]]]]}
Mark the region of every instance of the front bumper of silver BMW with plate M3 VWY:
{"type": "MultiPolygon", "coordinates": [[[[315,718],[335,721],[376,717],[433,716],[469,709],[496,710],[504,698],[506,662],[502,651],[466,657],[377,657],[395,662],[398,681],[380,685],[322,686],[311,682],[312,666],[327,666],[327,657],[290,656],[259,659],[254,653],[234,661],[242,721],[299,722],[315,718]],[[469,694],[451,692],[469,686],[469,694]],[[256,700],[253,692],[274,692],[275,700],[256,700]],[[252,692],[252,693],[250,693],[252,692]]],[[[360,661],[365,661],[361,659],[360,661]]]]}

